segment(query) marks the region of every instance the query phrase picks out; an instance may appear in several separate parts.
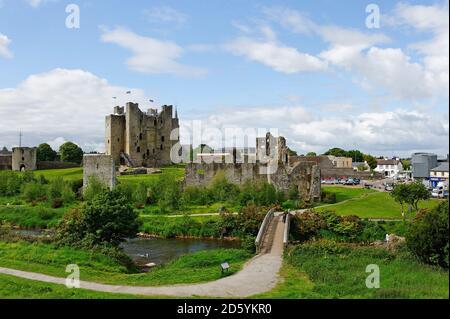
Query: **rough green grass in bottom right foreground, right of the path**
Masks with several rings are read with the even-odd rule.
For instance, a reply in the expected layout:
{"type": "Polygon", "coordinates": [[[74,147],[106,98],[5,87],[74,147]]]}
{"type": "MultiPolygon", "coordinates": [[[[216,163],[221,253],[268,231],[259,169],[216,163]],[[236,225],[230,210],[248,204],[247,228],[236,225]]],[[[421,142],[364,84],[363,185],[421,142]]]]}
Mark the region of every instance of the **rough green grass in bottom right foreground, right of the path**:
{"type": "Polygon", "coordinates": [[[449,297],[449,274],[421,264],[407,253],[383,248],[342,246],[338,251],[317,250],[303,244],[285,255],[284,282],[257,298],[292,299],[434,299],[449,297]],[[368,289],[366,267],[380,269],[380,288],[368,289]]]}

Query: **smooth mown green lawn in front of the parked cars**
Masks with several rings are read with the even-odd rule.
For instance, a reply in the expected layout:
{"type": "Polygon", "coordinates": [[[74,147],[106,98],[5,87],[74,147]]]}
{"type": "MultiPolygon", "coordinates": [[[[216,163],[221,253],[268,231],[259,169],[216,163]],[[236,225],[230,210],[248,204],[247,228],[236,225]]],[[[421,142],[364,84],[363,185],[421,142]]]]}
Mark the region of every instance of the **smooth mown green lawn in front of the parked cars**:
{"type": "MultiPolygon", "coordinates": [[[[419,208],[433,208],[439,204],[438,199],[421,201],[419,208]]],[[[317,207],[316,211],[332,210],[338,215],[356,215],[361,218],[401,219],[401,206],[389,193],[374,192],[355,197],[348,201],[317,207]]]]}

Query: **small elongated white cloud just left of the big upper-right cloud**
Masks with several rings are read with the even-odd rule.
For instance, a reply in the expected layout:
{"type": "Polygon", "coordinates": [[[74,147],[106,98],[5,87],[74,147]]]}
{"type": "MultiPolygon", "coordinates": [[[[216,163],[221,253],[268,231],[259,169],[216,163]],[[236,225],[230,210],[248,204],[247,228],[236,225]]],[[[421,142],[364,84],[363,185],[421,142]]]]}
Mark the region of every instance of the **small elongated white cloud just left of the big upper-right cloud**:
{"type": "Polygon", "coordinates": [[[327,64],[319,58],[279,43],[271,28],[264,26],[261,32],[264,34],[262,38],[238,37],[227,43],[225,48],[235,55],[245,56],[287,74],[326,70],[327,64]]]}

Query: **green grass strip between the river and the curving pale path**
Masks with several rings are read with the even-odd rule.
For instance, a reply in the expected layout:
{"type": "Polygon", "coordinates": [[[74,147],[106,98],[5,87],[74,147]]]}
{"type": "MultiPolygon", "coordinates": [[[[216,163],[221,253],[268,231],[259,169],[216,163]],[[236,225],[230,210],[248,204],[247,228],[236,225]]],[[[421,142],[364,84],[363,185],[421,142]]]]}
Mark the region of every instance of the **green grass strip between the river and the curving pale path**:
{"type": "Polygon", "coordinates": [[[115,259],[99,253],[42,243],[0,241],[0,266],[66,277],[66,266],[77,264],[80,279],[106,284],[160,286],[197,283],[221,278],[220,264],[230,263],[229,274],[239,271],[251,254],[241,249],[199,251],[153,268],[148,273],[127,273],[115,259]]]}

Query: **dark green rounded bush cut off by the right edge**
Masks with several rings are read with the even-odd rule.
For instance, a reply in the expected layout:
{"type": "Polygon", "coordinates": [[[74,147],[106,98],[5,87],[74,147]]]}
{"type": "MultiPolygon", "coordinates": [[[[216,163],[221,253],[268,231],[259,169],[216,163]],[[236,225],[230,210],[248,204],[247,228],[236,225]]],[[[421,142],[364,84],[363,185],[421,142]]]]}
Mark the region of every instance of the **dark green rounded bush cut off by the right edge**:
{"type": "Polygon", "coordinates": [[[448,201],[436,208],[420,211],[406,236],[411,252],[422,262],[448,268],[448,201]]]}

